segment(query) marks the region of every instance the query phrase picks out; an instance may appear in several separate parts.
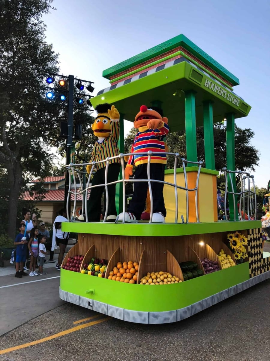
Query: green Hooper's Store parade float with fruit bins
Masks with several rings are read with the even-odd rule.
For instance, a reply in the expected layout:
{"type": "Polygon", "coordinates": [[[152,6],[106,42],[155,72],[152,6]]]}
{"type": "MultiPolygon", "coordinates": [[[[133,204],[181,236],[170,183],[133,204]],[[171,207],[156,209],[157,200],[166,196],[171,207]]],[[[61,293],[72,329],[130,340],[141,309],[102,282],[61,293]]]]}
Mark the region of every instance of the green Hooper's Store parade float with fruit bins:
{"type": "MultiPolygon", "coordinates": [[[[103,220],[89,222],[87,199],[95,192],[91,176],[96,164],[91,163],[94,167],[85,186],[82,165],[68,165],[69,196],[75,205],[62,230],[77,232],[78,242],[63,260],[60,298],[124,321],[168,323],[190,317],[269,278],[270,257],[263,258],[261,222],[251,219],[252,213],[256,219],[254,179],[247,172],[235,171],[235,119],[246,117],[251,109],[233,90],[238,78],[182,34],[104,70],[103,77],[111,85],[91,98],[91,103],[94,108],[113,104],[120,112],[117,157],[121,171],[113,182],[118,214],[127,210],[125,183],[135,182],[122,176],[126,165],[123,119],[134,122],[143,104],[161,108],[170,132],[185,130],[186,159],[179,153],[166,153],[167,158],[174,158],[175,166],[165,170],[165,223],[152,219],[149,173],[148,221],[130,223],[124,218],[106,222],[106,206],[103,220]],[[219,172],[213,140],[213,123],[217,122],[226,124],[223,171],[229,212],[224,221],[218,221],[217,214],[219,172]],[[204,128],[205,163],[197,158],[197,126],[204,128]],[[72,179],[79,184],[75,190],[72,179]],[[85,222],[76,219],[79,198],[85,222]]],[[[147,156],[150,162],[155,152],[147,156]]],[[[106,169],[110,160],[104,159],[106,169]]],[[[105,171],[101,184],[105,195],[108,183],[105,171]]]]}

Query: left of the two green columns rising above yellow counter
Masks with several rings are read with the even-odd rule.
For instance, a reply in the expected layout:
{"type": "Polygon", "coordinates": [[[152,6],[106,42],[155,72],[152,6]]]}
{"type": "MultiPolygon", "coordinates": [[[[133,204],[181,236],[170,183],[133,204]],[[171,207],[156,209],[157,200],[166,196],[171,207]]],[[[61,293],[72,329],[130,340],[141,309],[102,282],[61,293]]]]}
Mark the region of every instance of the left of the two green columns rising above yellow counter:
{"type": "MultiPolygon", "coordinates": [[[[197,162],[195,92],[185,92],[186,159],[197,162]]],[[[192,166],[190,164],[189,166],[192,166]]]]}

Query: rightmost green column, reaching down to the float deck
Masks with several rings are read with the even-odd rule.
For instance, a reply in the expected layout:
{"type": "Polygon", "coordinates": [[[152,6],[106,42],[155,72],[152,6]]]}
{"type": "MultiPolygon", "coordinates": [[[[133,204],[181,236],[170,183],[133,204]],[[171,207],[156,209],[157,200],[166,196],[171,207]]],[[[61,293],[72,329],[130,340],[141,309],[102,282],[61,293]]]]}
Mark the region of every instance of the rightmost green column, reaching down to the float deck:
{"type": "MultiPolygon", "coordinates": [[[[235,145],[234,145],[234,113],[226,114],[227,127],[226,127],[226,157],[227,157],[227,169],[235,171],[235,145]]],[[[235,175],[232,175],[233,188],[236,191],[235,175]]],[[[232,192],[231,182],[228,178],[228,191],[232,192]]],[[[229,198],[229,209],[230,209],[230,221],[238,219],[237,211],[237,196],[232,194],[228,195],[229,198]],[[233,204],[233,197],[235,199],[235,208],[233,204]]]]}

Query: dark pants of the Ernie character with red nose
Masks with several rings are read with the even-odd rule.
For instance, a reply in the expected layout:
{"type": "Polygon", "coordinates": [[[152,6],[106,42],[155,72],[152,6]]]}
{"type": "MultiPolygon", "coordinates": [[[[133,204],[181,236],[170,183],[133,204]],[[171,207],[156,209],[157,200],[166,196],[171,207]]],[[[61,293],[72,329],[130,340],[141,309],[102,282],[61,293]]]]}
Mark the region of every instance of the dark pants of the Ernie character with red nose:
{"type": "MultiPolygon", "coordinates": [[[[164,181],[165,164],[151,163],[150,178],[164,181]]],[[[147,179],[147,164],[140,164],[136,167],[134,179],[147,179]]],[[[163,198],[163,183],[151,182],[153,195],[153,213],[161,212],[166,217],[166,209],[163,198]]],[[[148,182],[134,182],[132,200],[127,208],[128,212],[134,214],[136,219],[141,218],[141,213],[145,208],[148,182]]]]}

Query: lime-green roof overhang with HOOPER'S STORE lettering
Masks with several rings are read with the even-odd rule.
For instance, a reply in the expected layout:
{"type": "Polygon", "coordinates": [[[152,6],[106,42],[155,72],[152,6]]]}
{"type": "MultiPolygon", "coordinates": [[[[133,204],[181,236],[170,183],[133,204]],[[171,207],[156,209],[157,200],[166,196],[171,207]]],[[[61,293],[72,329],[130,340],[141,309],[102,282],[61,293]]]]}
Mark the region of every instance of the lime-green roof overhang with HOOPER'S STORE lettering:
{"type": "MultiPolygon", "coordinates": [[[[215,83],[213,79],[183,61],[93,97],[91,103],[94,107],[105,102],[114,104],[119,112],[124,115],[124,119],[133,122],[142,104],[150,106],[152,101],[159,100],[162,102],[164,115],[169,119],[171,131],[185,129],[185,96],[180,90],[196,92],[197,126],[203,125],[203,102],[208,100],[213,101],[214,123],[223,121],[226,113],[233,112],[235,118],[248,115],[251,109],[250,105],[240,98],[238,98],[238,106],[232,104],[231,101],[205,86],[207,80],[215,83]],[[174,96],[173,94],[177,90],[178,92],[174,96]]],[[[220,84],[217,85],[222,88],[220,84]]],[[[228,89],[222,89],[228,94],[230,93],[228,89]]],[[[230,94],[235,96],[233,93],[230,94]]]]}

